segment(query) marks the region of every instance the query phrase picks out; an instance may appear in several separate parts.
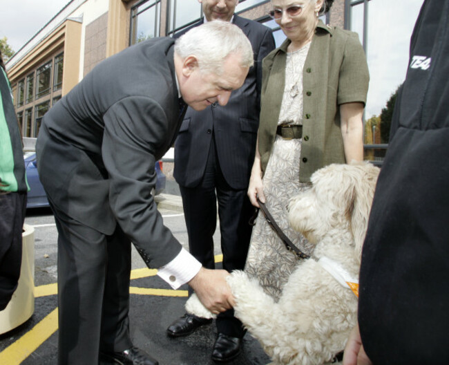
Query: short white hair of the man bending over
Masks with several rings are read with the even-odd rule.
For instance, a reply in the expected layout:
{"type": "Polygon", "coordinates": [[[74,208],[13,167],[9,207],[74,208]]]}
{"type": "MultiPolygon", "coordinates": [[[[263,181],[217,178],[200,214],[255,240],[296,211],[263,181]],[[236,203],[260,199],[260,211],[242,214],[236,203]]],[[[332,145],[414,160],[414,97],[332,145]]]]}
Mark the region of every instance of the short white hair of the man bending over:
{"type": "Polygon", "coordinates": [[[200,71],[222,73],[229,55],[240,55],[240,67],[254,64],[253,48],[247,36],[229,21],[208,21],[176,39],[175,52],[182,59],[194,55],[200,71]]]}

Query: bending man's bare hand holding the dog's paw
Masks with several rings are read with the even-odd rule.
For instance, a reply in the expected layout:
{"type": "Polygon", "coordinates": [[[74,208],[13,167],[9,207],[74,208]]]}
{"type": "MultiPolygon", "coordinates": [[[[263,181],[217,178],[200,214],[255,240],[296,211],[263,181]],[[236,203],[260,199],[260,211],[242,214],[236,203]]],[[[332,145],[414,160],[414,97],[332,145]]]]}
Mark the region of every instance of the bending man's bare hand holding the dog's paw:
{"type": "Polygon", "coordinates": [[[201,268],[189,285],[195,290],[203,305],[214,315],[231,309],[236,302],[226,282],[229,272],[201,268]]]}

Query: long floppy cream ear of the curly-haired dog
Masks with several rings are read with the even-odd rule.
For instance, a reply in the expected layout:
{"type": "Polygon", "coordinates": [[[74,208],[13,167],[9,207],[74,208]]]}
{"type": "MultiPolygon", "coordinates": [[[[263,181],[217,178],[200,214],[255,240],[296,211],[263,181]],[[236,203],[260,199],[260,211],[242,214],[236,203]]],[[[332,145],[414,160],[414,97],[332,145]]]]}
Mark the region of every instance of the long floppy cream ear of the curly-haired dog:
{"type": "Polygon", "coordinates": [[[370,164],[370,162],[361,162],[352,164],[356,167],[356,178],[354,183],[354,196],[350,205],[350,223],[351,231],[354,236],[356,253],[361,256],[363,241],[368,227],[368,219],[376,188],[377,176],[379,176],[379,168],[370,164]]]}

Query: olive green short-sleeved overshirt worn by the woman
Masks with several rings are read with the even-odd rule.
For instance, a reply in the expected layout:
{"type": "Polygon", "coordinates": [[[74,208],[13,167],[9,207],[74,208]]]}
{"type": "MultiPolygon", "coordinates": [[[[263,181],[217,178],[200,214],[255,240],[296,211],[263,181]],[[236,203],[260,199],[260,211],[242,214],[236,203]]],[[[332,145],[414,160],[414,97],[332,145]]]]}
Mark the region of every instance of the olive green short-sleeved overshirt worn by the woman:
{"type": "MultiPolygon", "coordinates": [[[[259,125],[260,165],[265,171],[276,137],[285,87],[289,39],[262,64],[259,125]]],[[[365,53],[355,32],[318,22],[303,68],[303,145],[300,182],[331,163],[344,163],[339,105],[366,102],[368,73],[365,53]]]]}

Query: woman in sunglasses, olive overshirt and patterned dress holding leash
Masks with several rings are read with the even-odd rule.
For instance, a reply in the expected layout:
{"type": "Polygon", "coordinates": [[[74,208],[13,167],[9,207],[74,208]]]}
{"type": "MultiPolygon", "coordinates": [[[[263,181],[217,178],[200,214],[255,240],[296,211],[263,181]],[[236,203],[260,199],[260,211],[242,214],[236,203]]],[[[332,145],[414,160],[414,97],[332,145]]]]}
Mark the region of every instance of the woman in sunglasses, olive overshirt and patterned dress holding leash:
{"type": "MultiPolygon", "coordinates": [[[[318,17],[333,0],[272,0],[269,15],[287,39],[263,61],[258,146],[248,195],[257,198],[301,251],[313,246],[289,227],[289,200],[331,163],[363,160],[362,115],[369,74],[356,33],[318,17]]],[[[245,271],[278,299],[298,259],[262,214],[245,271]]]]}

